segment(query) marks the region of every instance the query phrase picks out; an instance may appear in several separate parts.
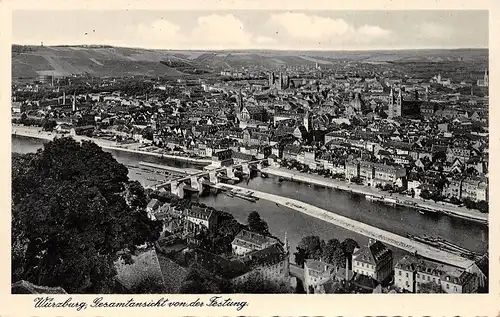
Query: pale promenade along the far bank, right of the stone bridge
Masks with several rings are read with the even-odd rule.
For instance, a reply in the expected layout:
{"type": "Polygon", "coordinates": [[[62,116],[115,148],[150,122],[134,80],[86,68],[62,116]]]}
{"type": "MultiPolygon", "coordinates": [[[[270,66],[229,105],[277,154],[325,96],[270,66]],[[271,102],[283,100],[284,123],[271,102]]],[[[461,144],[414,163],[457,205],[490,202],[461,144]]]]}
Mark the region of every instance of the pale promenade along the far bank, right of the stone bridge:
{"type": "Polygon", "coordinates": [[[392,198],[397,201],[398,205],[406,207],[410,206],[414,208],[423,208],[427,210],[432,210],[434,212],[442,212],[450,216],[476,221],[479,223],[485,223],[485,224],[488,223],[488,214],[483,214],[475,210],[469,210],[466,208],[461,208],[451,205],[444,205],[433,201],[424,201],[422,199],[412,198],[403,195],[389,195],[388,193],[381,193],[380,191],[373,189],[371,187],[346,183],[333,179],[327,179],[321,176],[310,175],[298,171],[290,171],[285,168],[266,167],[262,169],[262,172],[274,176],[283,177],[291,181],[299,181],[303,183],[316,184],[329,188],[337,188],[344,191],[350,191],[353,193],[359,193],[363,195],[371,195],[378,198],[384,198],[384,197],[392,198]]]}

